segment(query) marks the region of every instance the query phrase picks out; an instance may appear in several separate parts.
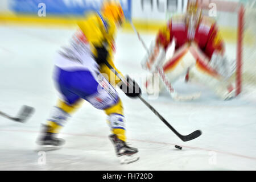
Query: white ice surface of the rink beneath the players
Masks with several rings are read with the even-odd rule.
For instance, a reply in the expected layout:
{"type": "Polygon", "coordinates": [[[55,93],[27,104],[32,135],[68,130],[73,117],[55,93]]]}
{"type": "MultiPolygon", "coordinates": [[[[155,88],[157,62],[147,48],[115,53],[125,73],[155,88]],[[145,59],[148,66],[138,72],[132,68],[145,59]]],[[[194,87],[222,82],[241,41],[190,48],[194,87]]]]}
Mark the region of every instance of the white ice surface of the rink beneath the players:
{"type": "MultiPolygon", "coordinates": [[[[61,131],[61,150],[35,151],[41,123],[45,123],[57,94],[52,81],[53,55],[68,43],[74,30],[0,27],[0,110],[15,115],[22,105],[35,107],[27,123],[0,117],[0,170],[255,170],[256,95],[243,92],[230,101],[219,100],[203,86],[174,84],[180,93],[202,92],[196,101],[177,102],[168,93],[152,100],[164,118],[183,135],[203,134],[182,142],[140,100],[118,90],[125,107],[127,140],[138,147],[140,159],[121,165],[108,139],[110,129],[103,111],[84,102],[61,131]],[[182,150],[175,148],[182,146],[182,150]]],[[[142,35],[147,45],[152,35],[142,35]]],[[[228,46],[234,57],[234,46],[228,46]]],[[[133,32],[119,32],[115,63],[140,85],[146,53],[133,32]]]]}

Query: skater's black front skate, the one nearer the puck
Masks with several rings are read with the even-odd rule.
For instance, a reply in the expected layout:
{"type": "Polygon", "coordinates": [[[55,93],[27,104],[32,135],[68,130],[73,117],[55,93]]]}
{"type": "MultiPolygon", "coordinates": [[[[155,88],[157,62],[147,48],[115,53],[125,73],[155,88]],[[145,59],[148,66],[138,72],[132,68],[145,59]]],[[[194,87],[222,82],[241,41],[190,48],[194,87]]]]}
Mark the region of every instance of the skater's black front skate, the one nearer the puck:
{"type": "Polygon", "coordinates": [[[115,134],[109,135],[109,139],[114,144],[115,154],[117,154],[121,164],[129,164],[139,160],[137,148],[127,146],[127,143],[118,139],[117,135],[115,134]]]}

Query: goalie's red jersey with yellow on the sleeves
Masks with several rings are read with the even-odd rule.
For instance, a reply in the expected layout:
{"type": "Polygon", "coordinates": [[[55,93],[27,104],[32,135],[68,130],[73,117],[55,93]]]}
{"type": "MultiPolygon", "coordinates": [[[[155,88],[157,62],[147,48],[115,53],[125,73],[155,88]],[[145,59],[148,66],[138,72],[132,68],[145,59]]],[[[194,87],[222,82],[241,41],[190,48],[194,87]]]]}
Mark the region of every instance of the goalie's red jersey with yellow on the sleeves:
{"type": "Polygon", "coordinates": [[[159,30],[156,44],[167,49],[172,40],[175,40],[175,51],[186,43],[196,43],[209,60],[213,52],[224,53],[224,42],[217,24],[208,16],[201,16],[192,31],[188,29],[185,15],[174,16],[168,21],[167,26],[159,30]]]}

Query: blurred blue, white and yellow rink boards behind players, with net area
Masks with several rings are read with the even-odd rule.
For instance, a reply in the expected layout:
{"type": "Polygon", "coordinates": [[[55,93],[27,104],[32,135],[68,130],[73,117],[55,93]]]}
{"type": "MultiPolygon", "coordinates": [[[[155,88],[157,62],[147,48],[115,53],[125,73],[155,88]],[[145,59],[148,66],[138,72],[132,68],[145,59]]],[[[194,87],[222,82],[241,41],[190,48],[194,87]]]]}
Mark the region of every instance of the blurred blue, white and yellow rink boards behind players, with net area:
{"type": "MultiPolygon", "coordinates": [[[[102,0],[2,0],[0,6],[0,23],[19,26],[32,26],[43,28],[75,28],[76,20],[84,18],[90,11],[98,11],[102,0]]],[[[185,13],[188,0],[121,0],[126,17],[122,31],[133,32],[130,25],[132,21],[139,32],[154,35],[166,21],[175,14],[185,13]]],[[[246,82],[254,84],[256,78],[253,74],[255,67],[254,35],[256,19],[256,3],[254,0],[203,0],[204,15],[212,16],[217,20],[221,34],[226,43],[237,46],[238,36],[242,36],[243,78],[246,82]],[[241,15],[240,7],[244,14],[241,15]],[[242,17],[241,17],[242,16],[242,17]],[[239,24],[239,19],[242,24],[239,24]],[[238,30],[243,30],[238,33],[238,30]]],[[[228,48],[229,49],[229,48],[228,48]]],[[[237,51],[237,47],[234,48],[237,51]]],[[[237,52],[231,57],[236,58],[237,52]]]]}

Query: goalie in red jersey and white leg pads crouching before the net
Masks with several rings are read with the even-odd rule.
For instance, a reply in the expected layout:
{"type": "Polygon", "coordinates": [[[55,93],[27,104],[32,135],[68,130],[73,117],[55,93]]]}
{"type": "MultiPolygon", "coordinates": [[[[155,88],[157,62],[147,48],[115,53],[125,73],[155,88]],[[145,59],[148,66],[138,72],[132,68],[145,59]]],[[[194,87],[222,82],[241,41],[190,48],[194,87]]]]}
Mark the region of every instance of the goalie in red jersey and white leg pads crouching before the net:
{"type": "MultiPolygon", "coordinates": [[[[201,15],[201,11],[201,1],[189,0],[185,14],[173,16],[160,28],[142,67],[151,73],[156,72],[156,67],[163,68],[170,83],[186,75],[187,81],[200,82],[221,99],[229,100],[235,96],[229,78],[236,62],[224,55],[224,42],[214,19],[201,15]],[[174,55],[166,61],[166,51],[172,41],[175,41],[174,55]]],[[[151,93],[163,90],[158,74],[148,79],[146,88],[151,93]]]]}

